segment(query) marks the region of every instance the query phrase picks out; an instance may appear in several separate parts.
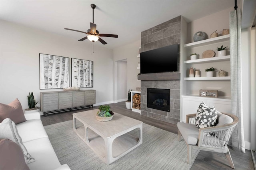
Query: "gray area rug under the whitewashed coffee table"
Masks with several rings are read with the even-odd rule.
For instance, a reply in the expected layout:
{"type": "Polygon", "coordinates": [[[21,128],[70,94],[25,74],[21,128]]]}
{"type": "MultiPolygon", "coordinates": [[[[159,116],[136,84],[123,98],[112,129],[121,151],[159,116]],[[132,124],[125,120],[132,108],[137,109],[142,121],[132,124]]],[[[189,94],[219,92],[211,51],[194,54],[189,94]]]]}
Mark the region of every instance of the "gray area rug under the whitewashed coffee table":
{"type": "MultiPolygon", "coordinates": [[[[107,165],[73,132],[72,120],[44,126],[60,164],[71,170],[189,170],[187,146],[178,135],[143,124],[143,143],[107,165]]],[[[135,133],[135,132],[134,132],[135,133]]],[[[194,162],[199,150],[193,150],[194,162]]]]}

